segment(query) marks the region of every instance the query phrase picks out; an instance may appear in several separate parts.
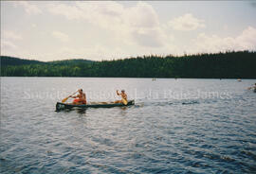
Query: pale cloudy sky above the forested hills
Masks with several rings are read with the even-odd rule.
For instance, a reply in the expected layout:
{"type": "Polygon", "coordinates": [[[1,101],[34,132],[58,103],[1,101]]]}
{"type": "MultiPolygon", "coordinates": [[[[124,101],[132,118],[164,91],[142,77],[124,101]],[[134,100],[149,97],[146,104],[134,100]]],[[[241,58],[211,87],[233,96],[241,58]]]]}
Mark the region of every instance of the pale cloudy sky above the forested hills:
{"type": "Polygon", "coordinates": [[[117,60],[256,50],[255,1],[1,1],[1,55],[117,60]]]}

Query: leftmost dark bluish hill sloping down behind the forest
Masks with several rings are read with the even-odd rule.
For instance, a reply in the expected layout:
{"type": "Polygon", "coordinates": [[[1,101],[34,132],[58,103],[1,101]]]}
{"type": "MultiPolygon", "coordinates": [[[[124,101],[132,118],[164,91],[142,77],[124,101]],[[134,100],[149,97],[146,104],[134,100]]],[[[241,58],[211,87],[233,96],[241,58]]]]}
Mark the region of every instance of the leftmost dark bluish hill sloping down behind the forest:
{"type": "Polygon", "coordinates": [[[0,61],[1,61],[1,66],[46,63],[44,61],[24,60],[24,59],[20,59],[20,58],[9,57],[9,56],[1,56],[0,61]]]}

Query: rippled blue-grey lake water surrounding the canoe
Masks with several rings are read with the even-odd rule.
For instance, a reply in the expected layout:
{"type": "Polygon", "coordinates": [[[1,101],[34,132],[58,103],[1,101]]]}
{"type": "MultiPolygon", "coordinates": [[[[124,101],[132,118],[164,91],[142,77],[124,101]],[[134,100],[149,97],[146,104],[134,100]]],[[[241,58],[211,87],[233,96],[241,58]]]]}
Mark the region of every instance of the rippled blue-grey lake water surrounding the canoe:
{"type": "Polygon", "coordinates": [[[253,173],[255,82],[1,78],[0,173],[253,173]],[[56,113],[78,88],[136,105],[56,113]]]}

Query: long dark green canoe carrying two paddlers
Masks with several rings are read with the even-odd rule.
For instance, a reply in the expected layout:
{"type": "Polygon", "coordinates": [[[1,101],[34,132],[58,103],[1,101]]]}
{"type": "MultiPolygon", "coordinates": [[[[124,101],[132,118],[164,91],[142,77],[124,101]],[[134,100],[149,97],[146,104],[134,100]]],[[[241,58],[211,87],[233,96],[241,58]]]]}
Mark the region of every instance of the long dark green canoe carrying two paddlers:
{"type": "Polygon", "coordinates": [[[82,105],[74,105],[72,103],[62,103],[57,102],[56,104],[56,111],[62,111],[62,110],[70,110],[73,108],[79,108],[79,109],[86,109],[86,108],[112,108],[112,107],[123,107],[123,106],[131,106],[135,104],[135,100],[128,100],[127,105],[124,105],[123,103],[114,103],[114,102],[91,102],[88,104],[82,104],[82,105]]]}

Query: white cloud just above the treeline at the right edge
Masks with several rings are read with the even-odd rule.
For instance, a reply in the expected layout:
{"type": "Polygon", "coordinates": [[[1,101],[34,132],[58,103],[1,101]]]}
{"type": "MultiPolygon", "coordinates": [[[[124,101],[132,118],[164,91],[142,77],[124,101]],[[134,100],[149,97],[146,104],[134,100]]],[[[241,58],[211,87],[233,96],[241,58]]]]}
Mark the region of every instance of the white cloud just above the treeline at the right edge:
{"type": "Polygon", "coordinates": [[[220,37],[200,33],[193,41],[191,52],[219,52],[227,50],[256,50],[256,28],[248,26],[237,37],[220,37]]]}

